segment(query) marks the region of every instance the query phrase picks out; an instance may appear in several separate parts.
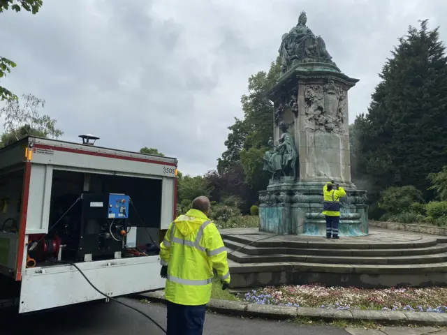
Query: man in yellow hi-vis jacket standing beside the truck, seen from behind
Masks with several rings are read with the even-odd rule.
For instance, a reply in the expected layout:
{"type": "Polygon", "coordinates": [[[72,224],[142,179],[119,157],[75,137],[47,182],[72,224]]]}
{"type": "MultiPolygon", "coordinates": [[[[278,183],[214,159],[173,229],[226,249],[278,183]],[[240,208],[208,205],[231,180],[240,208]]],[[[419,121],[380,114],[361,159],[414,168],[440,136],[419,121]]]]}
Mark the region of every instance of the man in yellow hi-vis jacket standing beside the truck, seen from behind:
{"type": "Polygon", "coordinates": [[[168,335],[203,333],[213,269],[217,271],[223,290],[230,283],[226,248],[209,214],[210,200],[196,198],[192,209],[170,224],[160,244],[160,275],[166,278],[168,335]]]}

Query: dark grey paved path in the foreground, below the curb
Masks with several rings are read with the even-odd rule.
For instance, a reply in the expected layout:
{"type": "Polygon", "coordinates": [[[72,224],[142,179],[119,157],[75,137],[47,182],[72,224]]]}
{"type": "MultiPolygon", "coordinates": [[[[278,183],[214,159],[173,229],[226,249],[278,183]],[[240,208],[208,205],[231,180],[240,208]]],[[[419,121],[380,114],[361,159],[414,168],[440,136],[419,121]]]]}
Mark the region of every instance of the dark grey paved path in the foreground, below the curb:
{"type": "MultiPolygon", "coordinates": [[[[149,314],[161,325],[166,326],[166,309],[159,304],[140,304],[132,299],[122,299],[149,314]]],[[[421,335],[437,329],[402,329],[400,332],[375,332],[363,329],[347,329],[330,326],[302,326],[293,323],[244,320],[222,315],[208,314],[205,321],[205,335],[421,335]],[[425,333],[424,333],[425,332],[425,333]]],[[[400,329],[392,329],[400,330],[400,329]]],[[[158,328],[145,317],[129,308],[110,302],[71,306],[56,311],[30,315],[5,315],[0,318],[0,334],[45,334],[45,335],[161,335],[158,328]]],[[[447,333],[439,333],[447,335],[447,333]]]]}

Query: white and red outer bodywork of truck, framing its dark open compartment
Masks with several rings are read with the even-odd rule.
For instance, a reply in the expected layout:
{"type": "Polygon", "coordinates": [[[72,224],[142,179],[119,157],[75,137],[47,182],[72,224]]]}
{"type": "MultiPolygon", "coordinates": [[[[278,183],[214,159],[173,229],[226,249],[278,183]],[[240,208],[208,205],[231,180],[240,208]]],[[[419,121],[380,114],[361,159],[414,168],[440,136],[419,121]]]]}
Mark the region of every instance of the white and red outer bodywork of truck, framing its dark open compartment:
{"type": "MultiPolygon", "coordinates": [[[[52,192],[54,192],[55,176],[60,172],[73,172],[85,176],[84,191],[89,191],[90,177],[94,180],[105,178],[104,176],[131,178],[129,180],[133,181],[138,179],[135,181],[137,184],[139,181],[144,184],[142,183],[144,180],[151,182],[158,180],[157,182],[161,183],[160,188],[151,186],[147,190],[138,190],[142,198],[146,193],[155,192],[151,196],[155,200],[159,197],[156,203],[159,203],[160,208],[154,207],[156,211],[149,211],[145,208],[145,200],[140,200],[144,220],[150,221],[150,226],[131,228],[137,230],[137,244],[144,244],[148,235],[151,239],[153,235],[159,243],[163,231],[168,229],[175,217],[177,198],[175,158],[149,156],[40,137],[27,137],[0,149],[0,181],[2,176],[5,180],[9,180],[0,183],[0,201],[3,197],[12,204],[10,199],[16,199],[15,210],[20,207],[20,215],[17,212],[13,213],[14,207],[11,205],[6,212],[0,211],[0,218],[3,221],[9,216],[14,217],[18,226],[18,232],[0,231],[0,276],[8,276],[20,282],[20,299],[18,299],[20,313],[104,298],[91,288],[79,271],[71,265],[49,266],[39,263],[35,267],[27,268],[28,244],[31,243],[31,238],[40,236],[36,234],[47,234],[52,229],[50,222],[52,192]],[[11,178],[11,171],[17,171],[21,177],[17,177],[14,172],[15,178],[11,178]],[[156,193],[159,192],[156,191],[158,189],[160,189],[159,195],[156,193]],[[21,195],[17,195],[17,192],[21,195]],[[151,213],[160,213],[160,216],[150,218],[151,213]]],[[[64,183],[64,180],[57,182],[64,183]]],[[[103,184],[107,183],[103,181],[103,184]]],[[[0,225],[1,223],[0,221],[0,225]]],[[[93,260],[75,264],[85,271],[91,283],[110,297],[164,287],[164,279],[159,276],[161,265],[158,255],[93,260]]]]}

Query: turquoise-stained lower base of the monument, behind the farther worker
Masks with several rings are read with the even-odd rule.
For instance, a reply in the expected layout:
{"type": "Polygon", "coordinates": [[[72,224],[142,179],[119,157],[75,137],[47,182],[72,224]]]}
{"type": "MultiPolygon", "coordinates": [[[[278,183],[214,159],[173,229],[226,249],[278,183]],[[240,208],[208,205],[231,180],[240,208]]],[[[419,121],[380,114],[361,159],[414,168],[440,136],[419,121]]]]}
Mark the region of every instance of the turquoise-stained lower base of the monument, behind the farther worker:
{"type": "MultiPolygon", "coordinates": [[[[259,193],[259,230],[274,234],[325,236],[323,182],[293,181],[291,177],[273,179],[267,191],[259,193]]],[[[339,235],[368,234],[367,191],[354,184],[343,184],[346,197],[341,199],[339,235]]]]}

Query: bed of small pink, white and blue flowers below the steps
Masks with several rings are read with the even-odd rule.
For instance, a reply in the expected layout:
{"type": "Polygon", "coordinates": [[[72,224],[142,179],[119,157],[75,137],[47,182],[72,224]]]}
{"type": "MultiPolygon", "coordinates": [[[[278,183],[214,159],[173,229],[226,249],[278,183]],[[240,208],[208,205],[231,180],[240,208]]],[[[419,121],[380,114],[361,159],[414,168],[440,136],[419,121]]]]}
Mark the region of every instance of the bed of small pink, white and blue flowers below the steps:
{"type": "Polygon", "coordinates": [[[447,313],[447,288],[369,290],[298,285],[263,288],[238,297],[254,304],[280,306],[447,313]]]}

